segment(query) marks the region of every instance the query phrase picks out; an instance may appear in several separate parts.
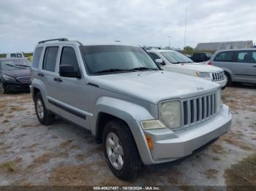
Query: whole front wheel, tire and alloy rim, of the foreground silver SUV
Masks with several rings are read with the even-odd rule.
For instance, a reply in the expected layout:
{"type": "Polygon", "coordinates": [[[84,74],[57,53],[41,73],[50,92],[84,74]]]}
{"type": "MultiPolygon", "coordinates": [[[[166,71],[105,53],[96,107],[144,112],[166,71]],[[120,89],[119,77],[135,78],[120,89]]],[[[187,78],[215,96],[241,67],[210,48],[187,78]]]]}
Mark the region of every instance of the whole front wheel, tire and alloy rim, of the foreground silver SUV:
{"type": "Polygon", "coordinates": [[[110,120],[107,122],[103,130],[103,143],[105,157],[113,174],[123,180],[134,178],[138,174],[138,171],[140,171],[140,155],[132,133],[126,123],[121,120],[110,120]],[[114,136],[118,138],[118,141],[115,141],[114,136]],[[110,144],[109,139],[113,141],[112,144],[110,144]],[[111,162],[111,157],[109,157],[111,152],[116,156],[112,157],[112,161],[116,158],[116,163],[111,162]],[[123,155],[118,155],[117,153],[123,155]],[[121,162],[121,159],[123,161],[122,165],[118,163],[121,162]]]}

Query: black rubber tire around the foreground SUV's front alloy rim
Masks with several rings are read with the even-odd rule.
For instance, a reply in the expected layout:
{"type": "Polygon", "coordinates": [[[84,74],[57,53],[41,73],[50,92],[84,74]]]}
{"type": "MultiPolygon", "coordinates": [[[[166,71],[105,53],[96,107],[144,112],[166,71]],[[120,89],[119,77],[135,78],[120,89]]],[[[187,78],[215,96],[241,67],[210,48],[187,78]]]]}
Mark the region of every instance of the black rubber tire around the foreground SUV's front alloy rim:
{"type": "Polygon", "coordinates": [[[105,157],[108,163],[108,166],[110,167],[111,171],[113,171],[113,174],[118,176],[120,179],[132,179],[136,174],[138,169],[136,168],[136,164],[138,163],[138,158],[132,157],[132,154],[135,154],[134,152],[137,152],[137,147],[135,145],[135,141],[132,140],[132,133],[129,131],[129,127],[124,123],[120,122],[118,120],[112,120],[105,125],[104,132],[103,132],[103,144],[104,144],[104,153],[105,157]],[[110,163],[110,160],[108,158],[108,153],[106,150],[106,137],[108,136],[108,133],[115,133],[116,136],[118,136],[118,139],[120,141],[121,147],[123,148],[124,152],[124,165],[123,168],[120,170],[117,170],[113,167],[113,165],[110,163]],[[132,142],[132,141],[133,142],[132,142]],[[132,143],[131,143],[132,142],[132,143]]]}

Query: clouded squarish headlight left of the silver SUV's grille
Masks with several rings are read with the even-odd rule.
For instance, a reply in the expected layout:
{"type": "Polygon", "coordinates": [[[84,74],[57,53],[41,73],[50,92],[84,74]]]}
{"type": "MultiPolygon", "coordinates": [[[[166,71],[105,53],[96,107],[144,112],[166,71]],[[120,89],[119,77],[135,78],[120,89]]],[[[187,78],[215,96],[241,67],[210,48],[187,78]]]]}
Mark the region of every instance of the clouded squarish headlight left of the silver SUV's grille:
{"type": "Polygon", "coordinates": [[[165,101],[159,104],[159,119],[168,128],[179,128],[181,126],[181,102],[165,101]]]}

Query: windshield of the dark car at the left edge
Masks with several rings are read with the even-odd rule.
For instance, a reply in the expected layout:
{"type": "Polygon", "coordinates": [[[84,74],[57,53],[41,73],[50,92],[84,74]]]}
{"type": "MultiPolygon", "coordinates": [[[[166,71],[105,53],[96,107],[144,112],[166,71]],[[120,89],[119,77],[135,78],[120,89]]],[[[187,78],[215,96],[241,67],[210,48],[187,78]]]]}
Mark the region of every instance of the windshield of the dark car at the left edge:
{"type": "Polygon", "coordinates": [[[1,61],[1,69],[6,70],[18,70],[18,69],[29,69],[31,66],[29,61],[18,60],[18,61],[1,61]]]}

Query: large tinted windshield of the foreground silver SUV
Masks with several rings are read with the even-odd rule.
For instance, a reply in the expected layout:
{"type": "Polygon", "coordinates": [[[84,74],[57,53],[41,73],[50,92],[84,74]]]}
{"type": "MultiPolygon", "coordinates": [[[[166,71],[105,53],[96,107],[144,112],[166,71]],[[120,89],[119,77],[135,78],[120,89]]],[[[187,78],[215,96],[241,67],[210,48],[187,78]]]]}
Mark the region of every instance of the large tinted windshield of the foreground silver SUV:
{"type": "Polygon", "coordinates": [[[159,70],[140,47],[96,45],[83,46],[82,50],[90,74],[159,70]]]}

